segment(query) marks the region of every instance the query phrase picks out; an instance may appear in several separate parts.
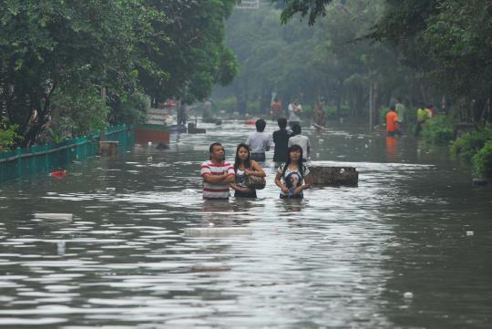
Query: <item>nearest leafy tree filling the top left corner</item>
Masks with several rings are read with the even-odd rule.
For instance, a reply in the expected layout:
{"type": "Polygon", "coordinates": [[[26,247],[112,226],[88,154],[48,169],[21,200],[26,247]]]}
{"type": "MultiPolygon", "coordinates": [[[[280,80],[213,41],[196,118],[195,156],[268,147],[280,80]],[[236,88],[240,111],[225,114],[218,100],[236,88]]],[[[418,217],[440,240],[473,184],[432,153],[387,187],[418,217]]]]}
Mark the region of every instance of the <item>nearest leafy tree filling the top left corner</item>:
{"type": "Polygon", "coordinates": [[[24,145],[46,123],[60,87],[116,86],[131,78],[141,2],[3,1],[0,107],[24,145]]]}

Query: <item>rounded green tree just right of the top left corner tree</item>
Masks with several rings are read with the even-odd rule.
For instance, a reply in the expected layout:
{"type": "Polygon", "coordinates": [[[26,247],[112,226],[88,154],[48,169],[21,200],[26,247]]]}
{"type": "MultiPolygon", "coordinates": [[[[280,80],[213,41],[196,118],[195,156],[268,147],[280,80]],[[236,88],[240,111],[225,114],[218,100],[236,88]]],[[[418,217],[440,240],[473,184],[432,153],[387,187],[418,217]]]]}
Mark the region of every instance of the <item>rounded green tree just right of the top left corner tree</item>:
{"type": "Polygon", "coordinates": [[[224,26],[235,0],[148,2],[167,17],[151,21],[166,37],[151,48],[142,45],[149,61],[161,70],[139,71],[142,86],[155,101],[177,97],[191,102],[206,98],[216,83],[231,82],[237,64],[224,45],[224,26]]]}

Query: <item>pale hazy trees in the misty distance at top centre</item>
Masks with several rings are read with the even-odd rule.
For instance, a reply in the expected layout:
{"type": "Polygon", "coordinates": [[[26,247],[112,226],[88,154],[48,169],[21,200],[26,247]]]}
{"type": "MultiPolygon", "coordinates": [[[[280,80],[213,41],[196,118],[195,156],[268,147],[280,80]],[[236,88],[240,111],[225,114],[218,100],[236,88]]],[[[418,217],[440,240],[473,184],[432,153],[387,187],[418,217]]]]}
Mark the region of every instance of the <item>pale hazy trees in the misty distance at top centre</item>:
{"type": "Polygon", "coordinates": [[[303,108],[323,98],[325,108],[342,108],[330,117],[367,116],[370,81],[379,82],[380,104],[387,104],[396,93],[407,92],[412,80],[390,48],[364,39],[383,4],[336,2],[323,7],[326,19],[312,27],[296,20],[279,25],[281,11],[272,6],[233,13],[227,43],[240,71],[231,87],[216,89],[215,98],[260,99],[262,112],[276,92],[283,108],[294,96],[303,108]]]}

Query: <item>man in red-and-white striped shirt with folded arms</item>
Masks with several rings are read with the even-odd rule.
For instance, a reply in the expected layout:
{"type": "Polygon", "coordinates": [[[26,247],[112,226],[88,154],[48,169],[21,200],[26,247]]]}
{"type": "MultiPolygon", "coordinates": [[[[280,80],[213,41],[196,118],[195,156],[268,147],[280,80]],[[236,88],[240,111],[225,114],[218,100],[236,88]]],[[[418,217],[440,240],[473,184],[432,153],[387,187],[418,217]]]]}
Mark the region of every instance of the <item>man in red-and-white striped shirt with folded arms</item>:
{"type": "Polygon", "coordinates": [[[229,199],[229,184],[234,182],[234,167],[225,161],[220,143],[210,145],[210,160],[201,164],[203,199],[229,199]]]}

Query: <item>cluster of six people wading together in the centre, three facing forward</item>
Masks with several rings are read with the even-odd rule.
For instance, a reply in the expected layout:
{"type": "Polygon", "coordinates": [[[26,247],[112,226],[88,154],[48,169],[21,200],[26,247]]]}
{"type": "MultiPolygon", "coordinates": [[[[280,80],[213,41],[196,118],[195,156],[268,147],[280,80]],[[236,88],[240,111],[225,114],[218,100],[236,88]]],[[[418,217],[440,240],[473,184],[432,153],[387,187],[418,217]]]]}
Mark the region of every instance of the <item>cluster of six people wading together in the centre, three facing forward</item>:
{"type": "MultiPolygon", "coordinates": [[[[295,111],[294,107],[292,111],[295,111]]],[[[291,118],[295,119],[294,116],[291,118]]],[[[225,160],[225,150],[220,143],[210,145],[210,159],[201,164],[200,170],[204,199],[229,199],[230,188],[236,198],[256,198],[256,190],[248,181],[251,176],[266,176],[261,162],[265,161],[265,152],[271,149],[272,141],[273,161],[277,168],[274,182],[280,188],[280,198],[303,198],[302,191],[312,185],[310,171],[304,165],[311,151],[309,138],[302,135],[300,121],[291,121],[292,131],[287,130],[287,118],[280,117],[277,122],[279,130],[274,131],[271,138],[264,131],[266,121],[258,119],[256,131],[245,143],[238,145],[233,164],[225,160]]]]}

